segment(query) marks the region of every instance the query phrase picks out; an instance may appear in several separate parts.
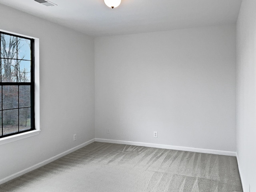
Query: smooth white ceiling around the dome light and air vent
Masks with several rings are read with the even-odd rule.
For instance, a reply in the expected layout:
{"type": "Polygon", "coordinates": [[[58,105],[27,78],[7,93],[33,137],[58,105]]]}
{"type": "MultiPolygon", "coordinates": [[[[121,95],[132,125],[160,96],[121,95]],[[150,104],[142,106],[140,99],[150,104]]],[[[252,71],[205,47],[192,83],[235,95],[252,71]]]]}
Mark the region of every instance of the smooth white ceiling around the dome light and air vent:
{"type": "Polygon", "coordinates": [[[236,23],[242,0],[0,0],[0,4],[90,36],[111,36],[236,23]]]}

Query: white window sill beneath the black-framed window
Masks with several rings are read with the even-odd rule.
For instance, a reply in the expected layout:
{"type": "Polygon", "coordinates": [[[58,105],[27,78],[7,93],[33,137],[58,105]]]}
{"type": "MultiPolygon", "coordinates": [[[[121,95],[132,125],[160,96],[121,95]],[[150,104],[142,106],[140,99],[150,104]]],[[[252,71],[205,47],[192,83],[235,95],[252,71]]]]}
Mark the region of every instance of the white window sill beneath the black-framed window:
{"type": "Polygon", "coordinates": [[[17,135],[12,135],[4,138],[0,138],[0,145],[4,145],[10,142],[18,141],[21,139],[29,138],[35,135],[38,135],[41,130],[33,130],[33,131],[28,131],[25,133],[17,134],[17,135]]]}

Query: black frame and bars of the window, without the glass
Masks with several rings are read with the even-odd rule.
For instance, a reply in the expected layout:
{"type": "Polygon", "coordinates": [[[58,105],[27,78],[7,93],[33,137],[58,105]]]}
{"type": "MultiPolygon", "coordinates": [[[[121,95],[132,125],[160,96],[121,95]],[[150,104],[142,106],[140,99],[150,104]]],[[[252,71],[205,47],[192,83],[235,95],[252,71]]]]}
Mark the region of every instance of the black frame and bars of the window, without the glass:
{"type": "MultiPolygon", "coordinates": [[[[6,34],[6,35],[9,35],[9,36],[14,36],[16,38],[23,38],[23,39],[28,39],[30,40],[30,51],[31,51],[31,71],[30,71],[30,82],[18,82],[16,80],[16,82],[2,82],[2,54],[0,52],[0,91],[1,93],[3,93],[3,86],[8,86],[8,85],[11,85],[11,86],[18,86],[18,90],[19,90],[19,86],[22,86],[22,85],[29,85],[30,86],[30,128],[29,129],[26,129],[26,130],[20,130],[20,122],[19,122],[19,109],[22,108],[22,107],[19,107],[19,104],[18,104],[18,108],[15,108],[15,109],[18,109],[18,131],[17,132],[10,132],[8,134],[4,134],[4,129],[3,129],[3,111],[4,110],[8,110],[8,109],[3,109],[3,94],[1,94],[0,96],[0,99],[2,100],[1,102],[1,106],[0,106],[0,112],[1,112],[1,124],[0,125],[0,129],[2,129],[2,134],[0,132],[0,138],[5,138],[5,137],[8,137],[8,136],[12,136],[12,135],[16,135],[16,134],[21,134],[21,133],[24,133],[24,132],[29,132],[29,131],[32,131],[32,130],[36,130],[35,128],[35,90],[34,90],[34,86],[35,86],[35,81],[34,81],[34,39],[33,38],[28,38],[26,36],[21,36],[21,35],[16,35],[16,34],[12,34],[12,33],[8,33],[8,32],[2,32],[0,31],[0,51],[2,50],[1,46],[1,34],[6,34]]],[[[18,49],[18,48],[17,48],[18,49]]],[[[15,60],[15,59],[14,59],[15,60]]],[[[18,56],[16,58],[16,60],[23,60],[23,59],[19,59],[18,56]]],[[[28,60],[26,60],[28,61],[28,60]]],[[[19,94],[19,91],[18,91],[18,94],[19,94]]],[[[19,96],[18,96],[19,98],[19,96]]],[[[19,102],[19,100],[18,100],[19,102]]],[[[25,107],[26,108],[26,107],[25,107]]]]}

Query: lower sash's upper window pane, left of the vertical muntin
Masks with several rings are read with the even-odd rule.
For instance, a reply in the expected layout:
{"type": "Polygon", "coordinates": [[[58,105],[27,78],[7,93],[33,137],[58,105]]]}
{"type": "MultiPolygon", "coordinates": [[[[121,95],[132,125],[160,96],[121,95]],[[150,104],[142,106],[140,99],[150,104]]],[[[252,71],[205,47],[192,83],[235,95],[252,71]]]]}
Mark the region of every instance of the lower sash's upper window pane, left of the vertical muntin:
{"type": "Polygon", "coordinates": [[[3,86],[3,109],[18,108],[18,86],[3,86]]]}

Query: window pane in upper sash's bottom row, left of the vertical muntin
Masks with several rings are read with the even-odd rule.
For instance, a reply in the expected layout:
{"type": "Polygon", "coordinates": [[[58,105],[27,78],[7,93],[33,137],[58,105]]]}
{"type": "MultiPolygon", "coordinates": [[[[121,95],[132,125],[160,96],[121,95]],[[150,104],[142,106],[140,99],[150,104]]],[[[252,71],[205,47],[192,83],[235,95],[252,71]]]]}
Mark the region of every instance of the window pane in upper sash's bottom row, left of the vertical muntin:
{"type": "Polygon", "coordinates": [[[14,59],[2,59],[2,82],[17,81],[16,62],[14,59]]]}

